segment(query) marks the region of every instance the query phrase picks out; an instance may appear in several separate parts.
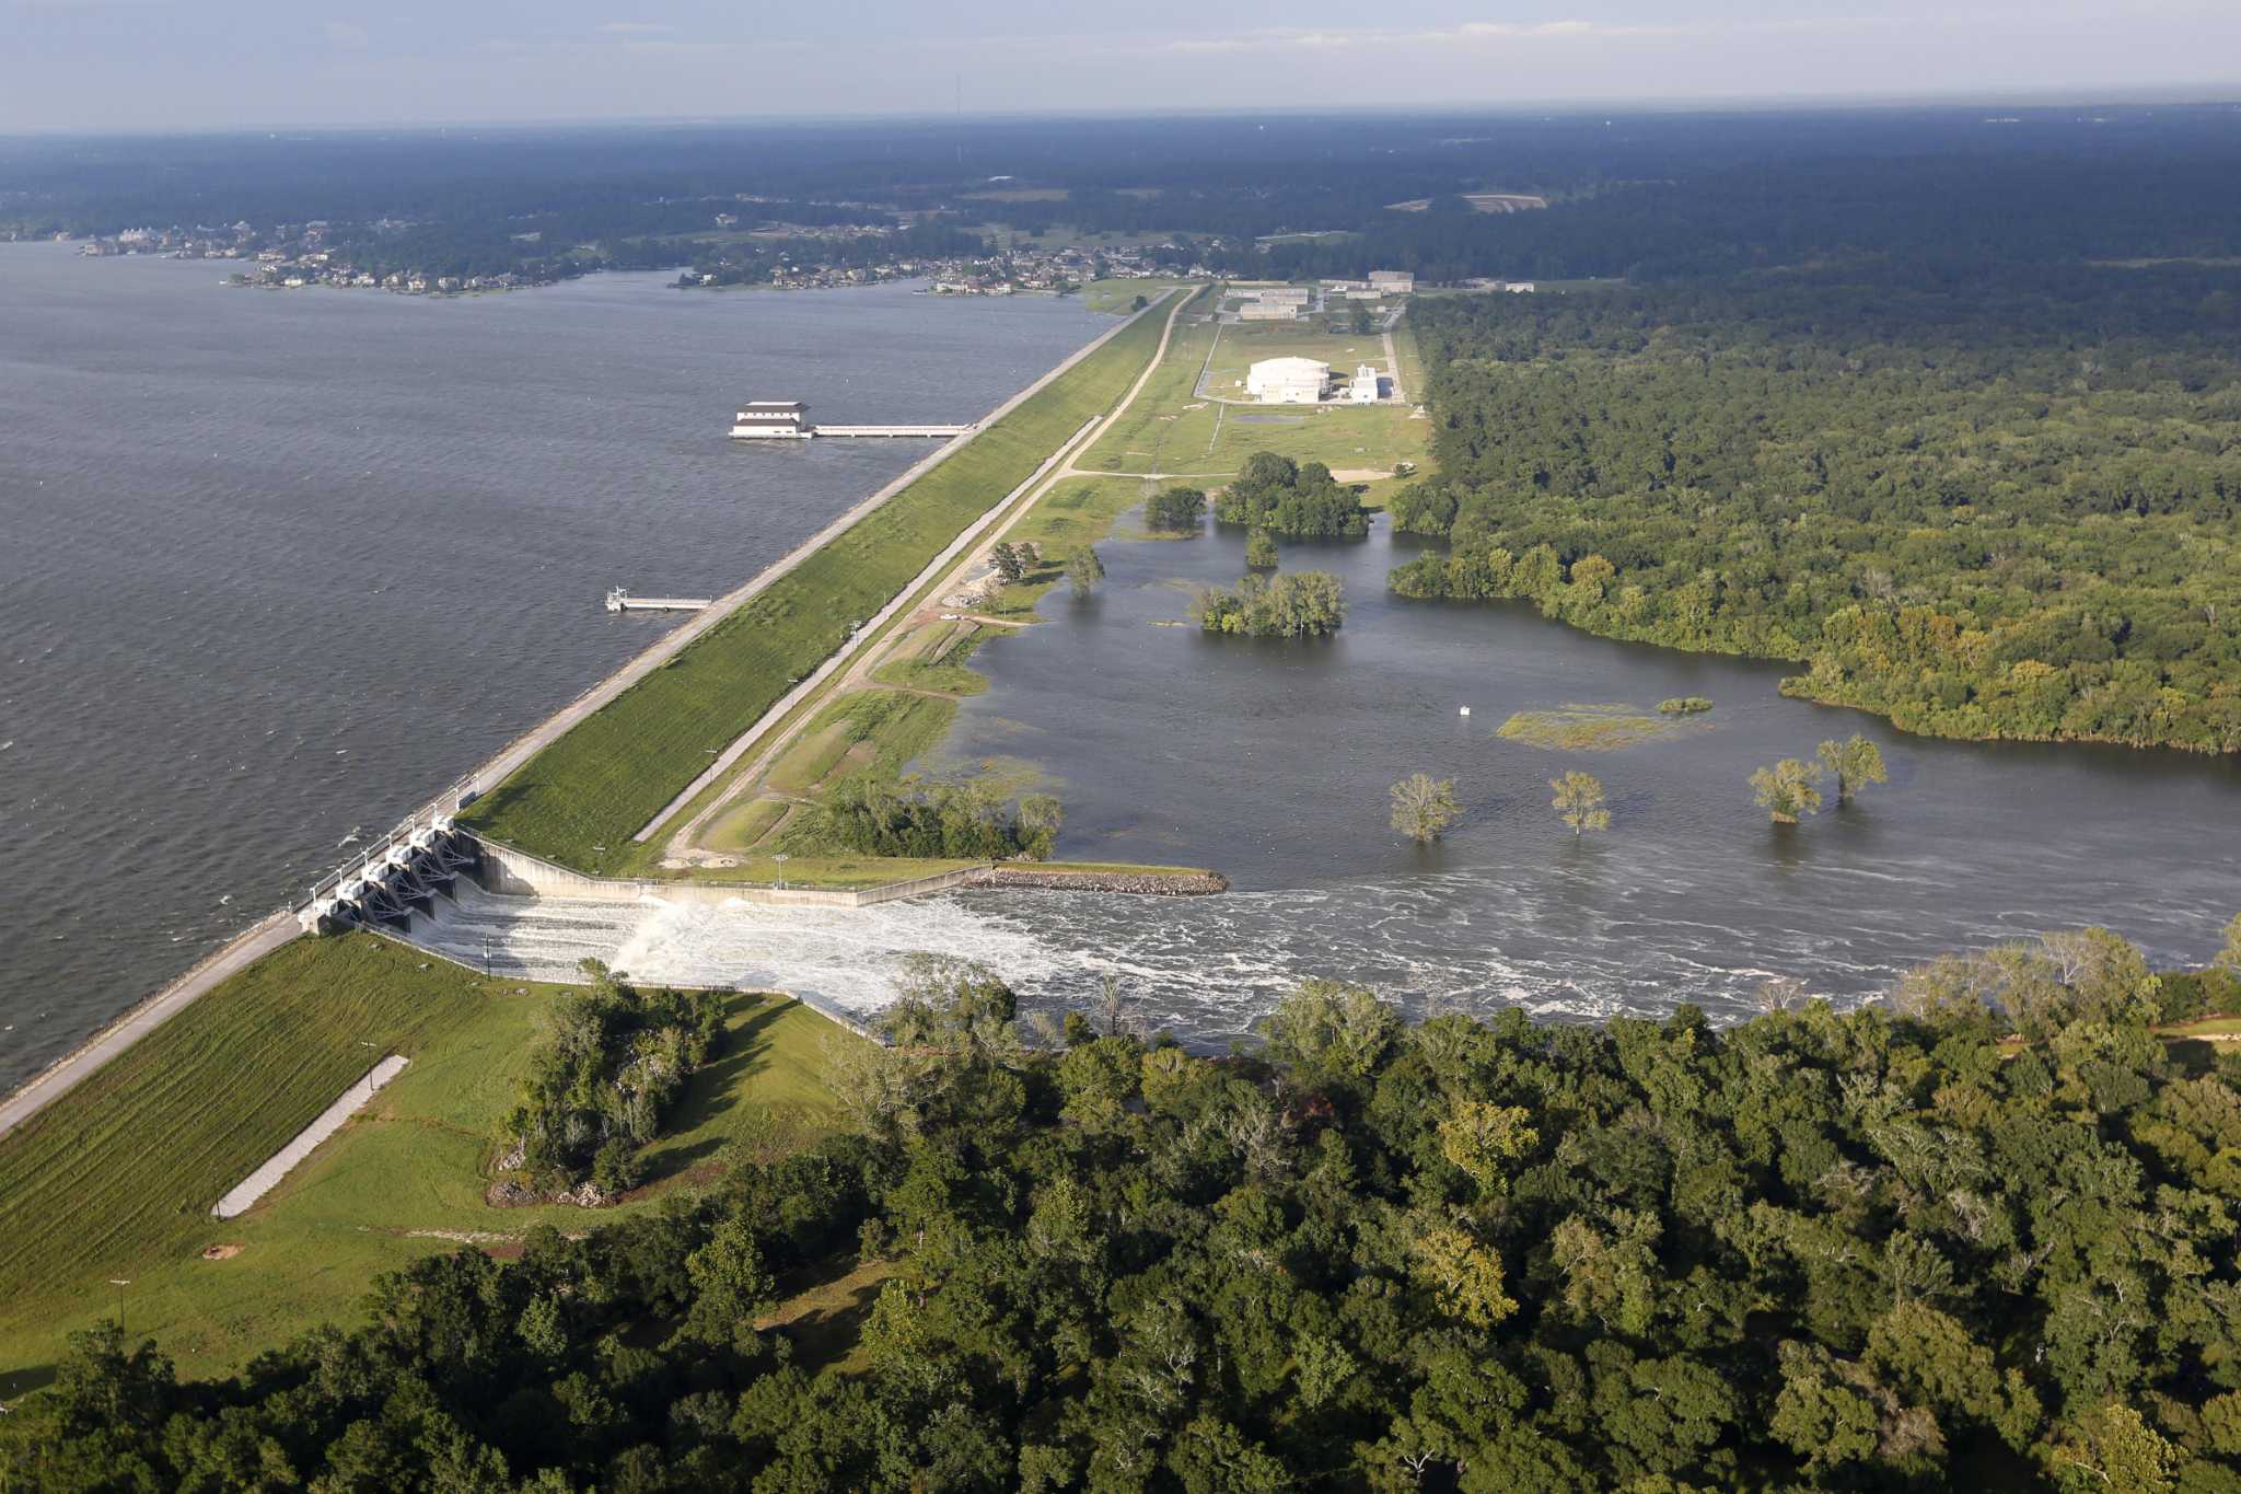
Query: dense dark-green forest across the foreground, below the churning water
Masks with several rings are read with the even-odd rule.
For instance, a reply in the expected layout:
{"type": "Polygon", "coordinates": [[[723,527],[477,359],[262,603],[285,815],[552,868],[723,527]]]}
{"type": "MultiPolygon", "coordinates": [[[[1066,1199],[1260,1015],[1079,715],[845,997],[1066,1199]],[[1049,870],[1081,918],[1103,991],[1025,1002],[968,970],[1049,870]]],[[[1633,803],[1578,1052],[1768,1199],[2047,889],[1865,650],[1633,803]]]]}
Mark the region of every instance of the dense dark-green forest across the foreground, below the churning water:
{"type": "Polygon", "coordinates": [[[81,1335],[0,1481],[2241,1490],[2241,1053],[2151,1028],[2237,999],[2086,930],[1728,1030],[1309,981],[1199,1057],[921,961],[854,1133],[229,1380],[81,1335]],[[856,1261],[845,1351],[757,1328],[856,1261]]]}

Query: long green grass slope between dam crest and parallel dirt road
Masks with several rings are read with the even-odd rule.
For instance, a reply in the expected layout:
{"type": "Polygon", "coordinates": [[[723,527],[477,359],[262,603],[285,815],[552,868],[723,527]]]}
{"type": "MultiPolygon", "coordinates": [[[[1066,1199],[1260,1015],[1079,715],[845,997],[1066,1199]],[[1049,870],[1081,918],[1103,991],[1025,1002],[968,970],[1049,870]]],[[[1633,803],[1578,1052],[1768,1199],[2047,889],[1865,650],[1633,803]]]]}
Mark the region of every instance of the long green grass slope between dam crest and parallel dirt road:
{"type": "Polygon", "coordinates": [[[831,656],[973,520],[1112,410],[1159,347],[1163,305],[809,555],[464,815],[493,840],[610,871],[630,838],[796,679],[831,656]],[[605,849],[598,849],[605,847],[605,849]]]}

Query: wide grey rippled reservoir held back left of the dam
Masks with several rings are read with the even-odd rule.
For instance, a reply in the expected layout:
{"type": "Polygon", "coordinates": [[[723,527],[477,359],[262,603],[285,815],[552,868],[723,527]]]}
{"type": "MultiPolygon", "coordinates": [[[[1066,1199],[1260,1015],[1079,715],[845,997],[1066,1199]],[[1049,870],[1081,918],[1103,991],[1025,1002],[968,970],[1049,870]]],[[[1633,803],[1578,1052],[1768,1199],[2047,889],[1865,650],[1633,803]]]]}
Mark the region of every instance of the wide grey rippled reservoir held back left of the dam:
{"type": "Polygon", "coordinates": [[[905,287],[244,291],[0,246],[0,1086],[1109,327],[905,287]]]}

